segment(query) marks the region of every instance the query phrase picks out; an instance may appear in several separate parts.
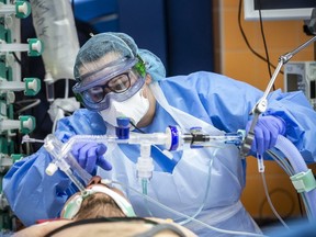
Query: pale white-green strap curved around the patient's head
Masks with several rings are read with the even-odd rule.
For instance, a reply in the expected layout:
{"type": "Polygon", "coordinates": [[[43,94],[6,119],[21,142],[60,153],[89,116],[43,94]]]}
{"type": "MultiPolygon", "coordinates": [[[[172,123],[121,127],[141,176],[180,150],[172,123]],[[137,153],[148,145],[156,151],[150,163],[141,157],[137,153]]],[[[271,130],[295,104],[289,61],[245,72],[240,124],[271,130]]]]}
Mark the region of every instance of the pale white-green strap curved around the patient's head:
{"type": "Polygon", "coordinates": [[[133,210],[133,206],[131,203],[124,199],[119,193],[114,192],[113,190],[109,189],[105,185],[97,184],[91,188],[86,189],[83,192],[78,193],[74,196],[71,196],[67,203],[65,204],[63,211],[61,211],[61,218],[74,218],[77,213],[79,212],[82,201],[87,199],[89,195],[92,195],[93,193],[104,193],[112,198],[114,202],[117,204],[117,206],[121,208],[121,211],[127,216],[127,217],[135,217],[136,214],[133,210]]]}

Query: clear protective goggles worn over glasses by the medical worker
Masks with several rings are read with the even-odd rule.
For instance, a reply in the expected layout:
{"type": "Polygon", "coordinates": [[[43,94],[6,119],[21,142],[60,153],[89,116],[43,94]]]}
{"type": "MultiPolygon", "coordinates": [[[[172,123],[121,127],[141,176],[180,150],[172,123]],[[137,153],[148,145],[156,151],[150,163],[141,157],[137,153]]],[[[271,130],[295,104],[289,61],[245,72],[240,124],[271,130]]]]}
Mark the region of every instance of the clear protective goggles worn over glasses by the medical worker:
{"type": "Polygon", "coordinates": [[[140,58],[119,59],[104,69],[80,78],[74,86],[77,99],[92,111],[106,110],[110,101],[125,101],[145,83],[145,65],[140,58]]]}

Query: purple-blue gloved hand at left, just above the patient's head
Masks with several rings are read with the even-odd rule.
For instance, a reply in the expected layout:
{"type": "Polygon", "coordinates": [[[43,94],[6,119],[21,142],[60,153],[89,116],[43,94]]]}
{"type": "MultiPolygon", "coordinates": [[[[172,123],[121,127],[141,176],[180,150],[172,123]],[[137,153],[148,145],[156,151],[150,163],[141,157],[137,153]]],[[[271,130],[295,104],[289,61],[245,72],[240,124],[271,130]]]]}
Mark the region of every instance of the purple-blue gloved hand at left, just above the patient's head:
{"type": "Polygon", "coordinates": [[[106,146],[98,143],[77,143],[71,149],[71,154],[77,159],[80,167],[86,169],[89,173],[92,173],[95,166],[100,166],[104,170],[112,169],[112,165],[103,157],[105,151],[106,146]]]}

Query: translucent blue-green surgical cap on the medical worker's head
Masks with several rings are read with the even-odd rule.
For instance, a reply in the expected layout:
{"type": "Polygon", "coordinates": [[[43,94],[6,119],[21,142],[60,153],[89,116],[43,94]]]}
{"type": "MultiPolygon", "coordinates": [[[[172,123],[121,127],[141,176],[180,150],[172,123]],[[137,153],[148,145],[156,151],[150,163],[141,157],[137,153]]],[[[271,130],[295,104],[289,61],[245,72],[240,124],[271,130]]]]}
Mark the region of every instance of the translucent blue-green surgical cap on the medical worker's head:
{"type": "Polygon", "coordinates": [[[138,49],[134,40],[124,33],[106,32],[93,35],[79,49],[76,57],[74,76],[78,82],[86,74],[93,74],[111,65],[113,61],[103,61],[105,55],[111,55],[113,61],[134,59],[139,56],[146,66],[146,72],[153,80],[158,81],[166,77],[166,69],[161,60],[151,52],[138,49]]]}

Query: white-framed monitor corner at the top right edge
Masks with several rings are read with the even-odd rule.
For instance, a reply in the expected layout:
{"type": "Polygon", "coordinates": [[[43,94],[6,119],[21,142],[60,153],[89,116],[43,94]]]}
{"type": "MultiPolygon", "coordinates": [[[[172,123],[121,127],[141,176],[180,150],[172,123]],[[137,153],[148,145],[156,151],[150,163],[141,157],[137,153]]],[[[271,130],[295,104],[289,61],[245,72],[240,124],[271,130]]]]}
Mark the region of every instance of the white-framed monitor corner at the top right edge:
{"type": "Polygon", "coordinates": [[[309,20],[316,0],[244,0],[246,21],[309,20]],[[260,1],[260,4],[259,4],[260,1]]]}

